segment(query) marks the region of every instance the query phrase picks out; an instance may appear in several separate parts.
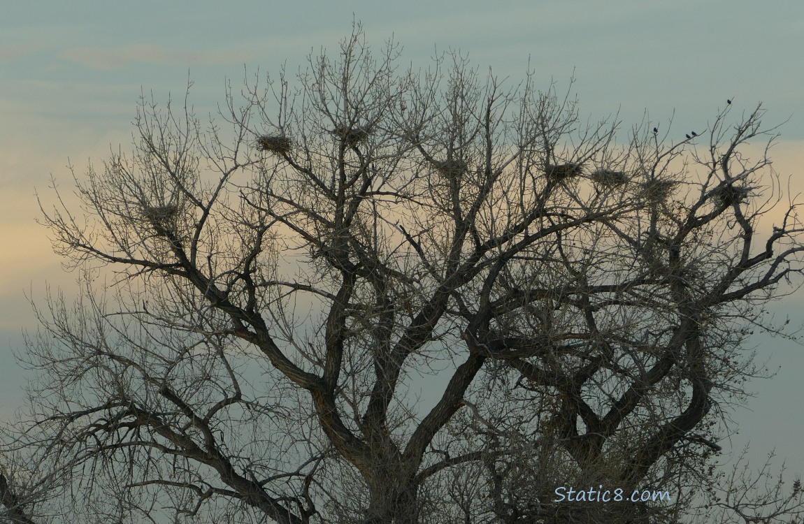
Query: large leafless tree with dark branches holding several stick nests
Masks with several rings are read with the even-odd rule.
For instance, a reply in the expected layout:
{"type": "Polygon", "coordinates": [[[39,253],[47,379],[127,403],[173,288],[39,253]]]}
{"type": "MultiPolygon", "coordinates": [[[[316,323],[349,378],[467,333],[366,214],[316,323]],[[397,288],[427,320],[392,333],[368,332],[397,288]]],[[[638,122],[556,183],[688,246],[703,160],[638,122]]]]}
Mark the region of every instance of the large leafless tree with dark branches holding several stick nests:
{"type": "Polygon", "coordinates": [[[762,109],[617,138],[530,73],[397,58],[355,31],[208,124],[143,98],[133,153],[76,176],[82,211],[43,207],[85,287],[39,314],[15,441],[62,472],[59,518],[694,514],[757,373],[741,348],[802,271],[797,207],[747,154],[776,136],[762,109]]]}

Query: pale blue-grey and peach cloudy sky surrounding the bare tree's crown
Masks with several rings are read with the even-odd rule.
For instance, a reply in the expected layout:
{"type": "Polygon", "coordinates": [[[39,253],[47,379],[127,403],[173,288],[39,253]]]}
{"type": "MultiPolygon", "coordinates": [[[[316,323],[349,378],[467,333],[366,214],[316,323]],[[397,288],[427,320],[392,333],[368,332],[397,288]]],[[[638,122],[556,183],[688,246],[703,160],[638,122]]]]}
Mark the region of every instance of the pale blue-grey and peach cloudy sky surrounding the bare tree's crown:
{"type": "MultiPolygon", "coordinates": [[[[27,375],[12,349],[35,330],[28,299],[47,286],[76,293],[37,224],[36,194],[50,203],[53,177],[69,190],[88,162],[129,149],[137,98],[183,96],[204,111],[224,101],[244,73],[295,71],[310,51],[336,51],[363,23],[376,47],[393,38],[404,63],[426,67],[459,49],[511,83],[530,64],[537,84],[576,78],[581,115],[618,114],[629,129],[672,117],[671,133],[705,129],[725,100],[783,124],[771,150],[793,193],[804,191],[804,2],[800,0],[441,0],[374,2],[2,2],[0,4],[0,416],[23,403],[27,375]]],[[[201,112],[203,113],[203,112],[201,112]]],[[[671,135],[671,137],[674,135],[671,135]]],[[[773,304],[802,322],[804,293],[773,304]]],[[[758,337],[752,347],[778,370],[732,420],[739,450],[763,460],[772,448],[804,473],[804,348],[758,337]]],[[[728,444],[727,444],[728,448],[728,444]]],[[[760,464],[757,464],[759,466],[760,464]]]]}

